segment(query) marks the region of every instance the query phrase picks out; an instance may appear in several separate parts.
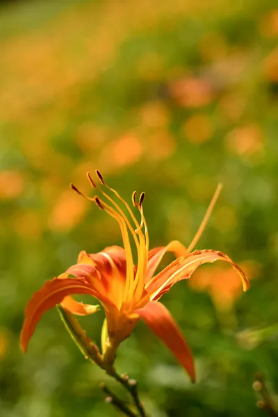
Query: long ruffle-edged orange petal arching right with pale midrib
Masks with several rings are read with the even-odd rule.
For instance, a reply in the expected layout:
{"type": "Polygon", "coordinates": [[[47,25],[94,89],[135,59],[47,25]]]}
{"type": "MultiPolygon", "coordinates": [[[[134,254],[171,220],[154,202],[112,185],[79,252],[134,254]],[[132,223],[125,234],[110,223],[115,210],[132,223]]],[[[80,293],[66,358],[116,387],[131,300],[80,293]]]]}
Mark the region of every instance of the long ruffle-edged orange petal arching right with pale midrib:
{"type": "Polygon", "coordinates": [[[158,298],[164,293],[167,293],[177,281],[190,278],[198,266],[203,263],[213,263],[215,261],[229,262],[240,276],[243,284],[243,291],[247,291],[250,287],[249,280],[243,270],[236,265],[229,256],[215,250],[195,250],[187,257],[182,256],[181,258],[176,259],[163,271],[159,272],[158,275],[153,277],[146,286],[147,292],[152,300],[158,300],[158,298]]]}

